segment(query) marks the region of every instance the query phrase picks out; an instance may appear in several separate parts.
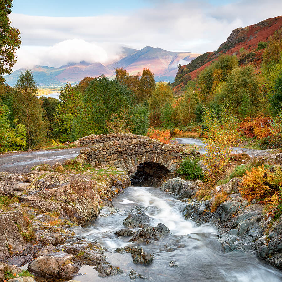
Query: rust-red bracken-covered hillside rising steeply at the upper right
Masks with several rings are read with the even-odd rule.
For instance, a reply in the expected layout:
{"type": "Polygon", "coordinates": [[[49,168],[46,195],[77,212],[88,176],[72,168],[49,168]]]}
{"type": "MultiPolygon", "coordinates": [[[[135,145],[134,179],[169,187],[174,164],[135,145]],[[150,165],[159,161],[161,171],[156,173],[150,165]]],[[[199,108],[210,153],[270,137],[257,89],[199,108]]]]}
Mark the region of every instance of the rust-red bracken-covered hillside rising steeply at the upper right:
{"type": "Polygon", "coordinates": [[[236,55],[241,65],[253,63],[259,71],[264,49],[257,50],[258,43],[267,42],[269,36],[281,27],[282,16],[279,16],[245,28],[234,29],[216,51],[206,52],[191,63],[181,66],[175,77],[175,82],[172,83],[175,93],[180,94],[184,91],[189,75],[194,79],[199,71],[210,65],[212,61],[217,60],[221,54],[236,55]],[[243,52],[241,48],[244,48],[243,52]]]}

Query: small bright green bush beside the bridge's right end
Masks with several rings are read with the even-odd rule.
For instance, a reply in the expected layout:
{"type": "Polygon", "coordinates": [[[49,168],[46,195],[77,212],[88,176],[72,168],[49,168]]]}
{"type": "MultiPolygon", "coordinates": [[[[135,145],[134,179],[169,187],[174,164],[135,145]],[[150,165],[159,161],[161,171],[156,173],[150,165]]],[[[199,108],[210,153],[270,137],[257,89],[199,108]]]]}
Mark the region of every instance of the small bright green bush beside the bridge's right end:
{"type": "Polygon", "coordinates": [[[201,167],[198,165],[198,161],[198,158],[187,158],[181,163],[176,172],[180,175],[184,175],[186,180],[203,179],[204,175],[201,167]]]}

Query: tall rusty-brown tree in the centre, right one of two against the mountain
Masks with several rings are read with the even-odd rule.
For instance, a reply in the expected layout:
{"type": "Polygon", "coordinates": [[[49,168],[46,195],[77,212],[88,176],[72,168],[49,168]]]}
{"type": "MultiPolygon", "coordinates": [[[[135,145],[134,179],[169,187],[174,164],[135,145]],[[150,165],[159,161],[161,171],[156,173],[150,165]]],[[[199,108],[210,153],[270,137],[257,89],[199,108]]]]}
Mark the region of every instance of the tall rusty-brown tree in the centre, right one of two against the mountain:
{"type": "Polygon", "coordinates": [[[155,76],[149,69],[144,69],[142,77],[139,80],[139,87],[137,93],[138,102],[148,100],[155,89],[155,76]]]}

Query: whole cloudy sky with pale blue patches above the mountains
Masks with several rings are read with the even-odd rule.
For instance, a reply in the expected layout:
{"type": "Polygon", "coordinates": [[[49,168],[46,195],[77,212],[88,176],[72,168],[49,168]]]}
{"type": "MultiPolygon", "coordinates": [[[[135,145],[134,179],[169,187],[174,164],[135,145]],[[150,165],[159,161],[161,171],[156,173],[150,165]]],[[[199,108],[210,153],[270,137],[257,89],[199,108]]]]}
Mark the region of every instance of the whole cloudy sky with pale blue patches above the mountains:
{"type": "Polygon", "coordinates": [[[22,39],[13,70],[107,64],[121,46],[214,51],[233,29],[281,14],[281,0],[13,0],[10,18],[22,39]]]}

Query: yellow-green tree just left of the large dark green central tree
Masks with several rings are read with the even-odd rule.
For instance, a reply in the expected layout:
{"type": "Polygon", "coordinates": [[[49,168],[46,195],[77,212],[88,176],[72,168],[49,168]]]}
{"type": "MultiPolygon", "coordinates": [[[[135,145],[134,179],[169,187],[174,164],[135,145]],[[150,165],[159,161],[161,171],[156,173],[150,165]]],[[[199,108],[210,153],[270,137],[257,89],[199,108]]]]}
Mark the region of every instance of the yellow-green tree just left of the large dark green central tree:
{"type": "Polygon", "coordinates": [[[53,136],[60,142],[73,141],[72,136],[73,121],[77,118],[80,111],[84,112],[82,107],[82,96],[78,87],[66,84],[61,89],[60,104],[56,107],[53,114],[53,136]]]}

